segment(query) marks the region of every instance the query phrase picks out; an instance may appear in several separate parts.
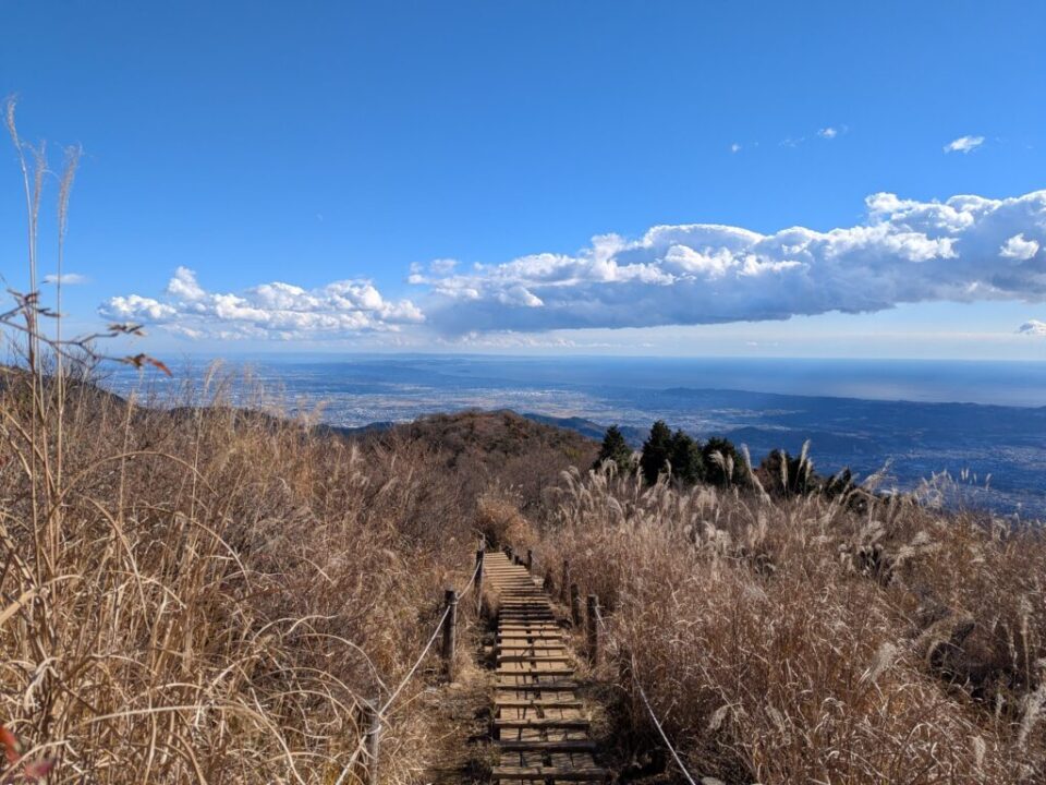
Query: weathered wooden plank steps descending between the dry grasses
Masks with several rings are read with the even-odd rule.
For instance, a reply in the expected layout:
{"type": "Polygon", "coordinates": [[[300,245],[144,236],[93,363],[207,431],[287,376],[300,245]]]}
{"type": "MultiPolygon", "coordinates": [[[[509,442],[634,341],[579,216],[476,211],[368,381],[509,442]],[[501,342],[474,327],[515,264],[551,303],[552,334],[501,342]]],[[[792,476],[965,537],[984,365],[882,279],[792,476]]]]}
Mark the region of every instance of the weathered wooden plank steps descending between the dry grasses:
{"type": "Polygon", "coordinates": [[[498,602],[494,737],[495,782],[606,782],[596,765],[574,669],[548,594],[506,554],[483,557],[484,583],[498,602]]]}

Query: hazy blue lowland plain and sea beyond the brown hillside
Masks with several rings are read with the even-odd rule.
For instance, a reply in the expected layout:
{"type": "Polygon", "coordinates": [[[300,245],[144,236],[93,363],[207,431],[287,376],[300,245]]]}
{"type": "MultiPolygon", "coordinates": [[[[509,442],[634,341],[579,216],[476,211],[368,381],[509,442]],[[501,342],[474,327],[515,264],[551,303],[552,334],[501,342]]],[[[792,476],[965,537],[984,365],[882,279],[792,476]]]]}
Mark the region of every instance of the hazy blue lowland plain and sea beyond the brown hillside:
{"type": "MultiPolygon", "coordinates": [[[[207,364],[173,363],[173,382],[122,369],[107,385],[162,394],[198,381],[207,364]]],[[[868,474],[889,462],[904,488],[966,470],[968,503],[1046,515],[1046,362],[370,354],[224,365],[234,378],[250,369],[291,411],[320,407],[332,425],[513,409],[586,421],[589,430],[620,424],[637,442],[664,419],[695,436],[744,443],[756,462],[808,438],[820,471],[868,474]]]]}

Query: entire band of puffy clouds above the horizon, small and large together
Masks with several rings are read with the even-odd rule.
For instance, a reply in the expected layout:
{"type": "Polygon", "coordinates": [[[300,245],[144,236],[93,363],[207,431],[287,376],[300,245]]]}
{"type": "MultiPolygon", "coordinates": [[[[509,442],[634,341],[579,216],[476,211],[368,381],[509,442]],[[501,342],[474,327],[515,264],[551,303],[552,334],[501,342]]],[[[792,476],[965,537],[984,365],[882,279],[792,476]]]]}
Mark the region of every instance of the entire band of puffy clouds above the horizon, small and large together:
{"type": "Polygon", "coordinates": [[[537,253],[467,271],[437,259],[408,278],[423,292],[421,307],[390,302],[366,281],[214,293],[179,268],[161,298],[114,297],[100,312],[190,337],[336,337],[424,322],[443,338],[461,338],[762,322],[901,303],[1046,301],[1046,190],[945,202],[878,193],[865,202],[864,222],[829,231],[658,226],[636,240],[604,234],[575,254],[537,253]]]}

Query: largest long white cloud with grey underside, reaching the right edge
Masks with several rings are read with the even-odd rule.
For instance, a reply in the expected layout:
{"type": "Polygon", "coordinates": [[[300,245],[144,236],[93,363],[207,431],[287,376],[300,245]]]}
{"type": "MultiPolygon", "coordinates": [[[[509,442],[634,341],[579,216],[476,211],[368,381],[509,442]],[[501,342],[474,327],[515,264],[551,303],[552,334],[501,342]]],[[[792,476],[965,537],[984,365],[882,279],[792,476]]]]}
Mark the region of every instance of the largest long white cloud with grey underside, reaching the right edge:
{"type": "Polygon", "coordinates": [[[920,202],[879,193],[866,219],[763,234],[713,224],[593,239],[460,273],[417,267],[443,334],[649,327],[865,313],[927,301],[1046,300],[1046,191],[920,202]],[[1035,253],[1030,253],[1032,245],[1035,253]]]}

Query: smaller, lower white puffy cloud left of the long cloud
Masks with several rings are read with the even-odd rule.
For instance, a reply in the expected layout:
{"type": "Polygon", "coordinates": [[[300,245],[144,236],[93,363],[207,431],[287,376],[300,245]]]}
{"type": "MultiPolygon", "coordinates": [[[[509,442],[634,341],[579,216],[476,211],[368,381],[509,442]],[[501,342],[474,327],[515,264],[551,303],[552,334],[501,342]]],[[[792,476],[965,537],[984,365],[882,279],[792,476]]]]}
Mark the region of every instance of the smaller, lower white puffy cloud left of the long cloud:
{"type": "Polygon", "coordinates": [[[99,307],[109,319],[156,325],[188,338],[308,339],[400,329],[424,321],[409,300],[390,302],[366,280],[318,289],[276,281],[242,292],[211,292],[179,267],[159,298],[113,297],[99,307]]]}

